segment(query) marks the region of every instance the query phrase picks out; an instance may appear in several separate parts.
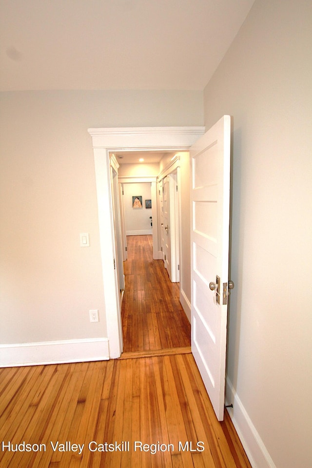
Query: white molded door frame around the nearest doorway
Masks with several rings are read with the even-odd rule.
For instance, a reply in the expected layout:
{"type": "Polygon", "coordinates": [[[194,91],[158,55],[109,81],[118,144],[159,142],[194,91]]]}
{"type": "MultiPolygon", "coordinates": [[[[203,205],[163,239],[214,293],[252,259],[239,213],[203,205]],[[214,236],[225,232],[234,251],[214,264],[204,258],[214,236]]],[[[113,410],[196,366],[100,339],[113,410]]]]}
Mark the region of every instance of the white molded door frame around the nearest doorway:
{"type": "Polygon", "coordinates": [[[110,358],[122,352],[120,307],[114,270],[115,242],[109,154],[114,151],[188,150],[205,127],[91,128],[98,199],[98,224],[110,358]]]}

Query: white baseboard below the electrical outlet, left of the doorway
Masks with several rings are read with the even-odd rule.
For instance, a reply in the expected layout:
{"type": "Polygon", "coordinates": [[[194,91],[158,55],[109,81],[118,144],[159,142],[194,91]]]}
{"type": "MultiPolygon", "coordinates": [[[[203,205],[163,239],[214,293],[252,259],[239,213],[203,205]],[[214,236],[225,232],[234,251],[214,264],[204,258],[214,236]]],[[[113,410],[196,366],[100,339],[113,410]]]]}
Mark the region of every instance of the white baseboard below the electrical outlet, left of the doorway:
{"type": "Polygon", "coordinates": [[[0,367],[109,359],[108,338],[0,345],[0,367]]]}

